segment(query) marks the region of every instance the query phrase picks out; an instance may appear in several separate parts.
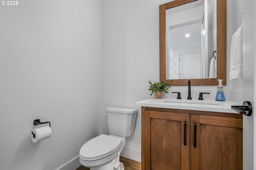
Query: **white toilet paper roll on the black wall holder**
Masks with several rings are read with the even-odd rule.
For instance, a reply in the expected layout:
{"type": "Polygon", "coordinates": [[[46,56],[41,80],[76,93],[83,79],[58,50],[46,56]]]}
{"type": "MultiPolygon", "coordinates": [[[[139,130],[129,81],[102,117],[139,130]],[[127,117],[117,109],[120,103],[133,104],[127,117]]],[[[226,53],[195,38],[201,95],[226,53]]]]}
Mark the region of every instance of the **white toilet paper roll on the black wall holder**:
{"type": "Polygon", "coordinates": [[[52,135],[52,129],[49,126],[33,129],[30,133],[31,140],[36,143],[52,135]]]}

